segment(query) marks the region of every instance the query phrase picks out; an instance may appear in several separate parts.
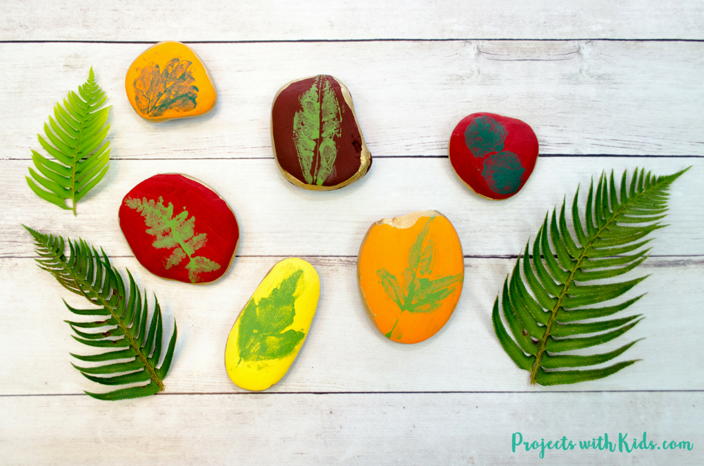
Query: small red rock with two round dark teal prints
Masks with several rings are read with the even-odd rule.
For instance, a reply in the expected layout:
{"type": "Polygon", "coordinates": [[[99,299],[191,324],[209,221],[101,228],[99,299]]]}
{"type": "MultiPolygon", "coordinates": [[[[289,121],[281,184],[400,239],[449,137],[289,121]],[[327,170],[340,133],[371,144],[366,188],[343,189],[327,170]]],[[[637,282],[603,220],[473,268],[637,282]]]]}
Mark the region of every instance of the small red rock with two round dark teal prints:
{"type": "Polygon", "coordinates": [[[506,199],[527,182],[538,160],[538,138],[526,123],[472,113],[455,126],[448,147],[455,173],[488,199],[506,199]]]}

